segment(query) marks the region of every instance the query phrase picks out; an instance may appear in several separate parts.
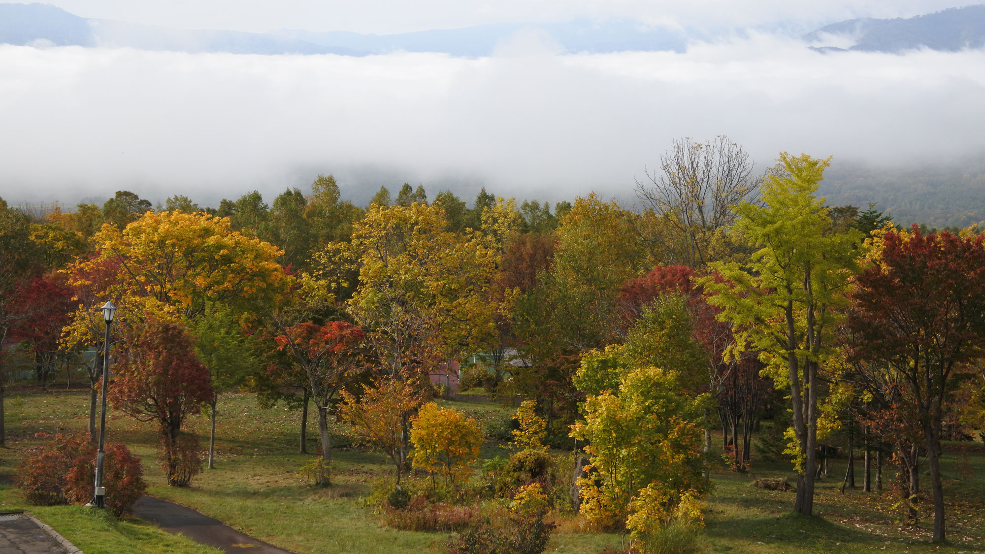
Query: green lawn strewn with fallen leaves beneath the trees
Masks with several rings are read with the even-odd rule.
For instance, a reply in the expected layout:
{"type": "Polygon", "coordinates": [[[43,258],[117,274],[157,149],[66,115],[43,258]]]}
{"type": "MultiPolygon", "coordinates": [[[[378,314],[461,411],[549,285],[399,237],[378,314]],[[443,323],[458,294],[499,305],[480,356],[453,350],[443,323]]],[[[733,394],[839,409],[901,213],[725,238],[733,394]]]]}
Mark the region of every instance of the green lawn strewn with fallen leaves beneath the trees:
{"type": "MultiPolygon", "coordinates": [[[[445,401],[480,419],[505,418],[509,412],[497,404],[476,399],[445,401]]],[[[17,464],[25,451],[39,445],[34,433],[77,432],[85,428],[88,395],[82,390],[50,390],[13,387],[7,392],[8,448],[0,450],[0,511],[28,509],[58,529],[87,554],[99,552],[213,552],[171,536],[138,519],[115,520],[80,507],[28,507],[12,485],[17,464]]],[[[118,413],[107,418],[108,440],[125,442],[142,456],[150,494],[199,510],[210,517],[257,538],[296,552],[442,552],[446,533],[397,531],[381,526],[362,506],[371,483],[391,474],[388,458],[381,454],[341,448],[333,462],[331,488],[316,488],[297,477],[298,467],[313,454],[298,454],[299,413],[278,407],[262,410],[249,394],[228,394],[220,402],[216,469],[203,470],[192,486],[170,488],[157,467],[153,426],[118,413]]],[[[203,447],[208,421],[188,421],[203,447]]],[[[313,424],[309,451],[317,450],[313,424]]],[[[709,552],[838,553],[866,552],[982,552],[985,551],[985,451],[981,443],[963,443],[965,452],[949,446],[944,462],[948,498],[949,545],[929,543],[930,519],[921,527],[901,527],[896,499],[888,487],[883,493],[863,493],[861,485],[838,492],[844,460],[832,464],[830,476],[819,482],[816,518],[789,515],[792,492],[764,491],[750,483],[755,477],[788,477],[789,464],[759,463],[754,459],[748,474],[715,473],[715,490],[705,504],[704,540],[709,552]],[[969,447],[970,445],[970,447],[969,447]],[[959,478],[955,463],[966,462],[959,478]]],[[[483,457],[504,455],[488,441],[483,457]]],[[[857,481],[861,464],[856,462],[857,481]]],[[[619,547],[617,534],[578,532],[570,517],[561,523],[549,551],[594,554],[607,545],[619,547]]]]}

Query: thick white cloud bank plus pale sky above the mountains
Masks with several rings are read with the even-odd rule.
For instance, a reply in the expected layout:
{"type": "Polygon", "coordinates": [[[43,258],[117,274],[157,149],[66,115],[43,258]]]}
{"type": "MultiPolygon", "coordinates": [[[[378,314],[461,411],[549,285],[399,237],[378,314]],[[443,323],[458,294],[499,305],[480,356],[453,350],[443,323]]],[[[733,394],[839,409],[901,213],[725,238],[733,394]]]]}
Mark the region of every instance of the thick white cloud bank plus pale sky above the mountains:
{"type": "MultiPolygon", "coordinates": [[[[882,2],[760,1],[739,14],[734,2],[54,3],[175,27],[318,31],[317,15],[378,33],[656,18],[661,6],[659,17],[681,25],[760,26],[786,14],[823,24],[949,6],[904,1],[886,13],[882,2]]],[[[129,189],[155,202],[186,194],[216,205],[254,188],[272,201],[333,173],[359,201],[405,181],[467,197],[485,185],[521,198],[589,190],[626,198],[686,136],[727,135],[759,168],[781,151],[885,166],[985,152],[982,98],[985,51],[822,54],[786,32],[692,42],[684,53],[611,54],[559,54],[549,37],[521,32],[475,59],[0,45],[0,196],[74,203],[129,189]]]]}

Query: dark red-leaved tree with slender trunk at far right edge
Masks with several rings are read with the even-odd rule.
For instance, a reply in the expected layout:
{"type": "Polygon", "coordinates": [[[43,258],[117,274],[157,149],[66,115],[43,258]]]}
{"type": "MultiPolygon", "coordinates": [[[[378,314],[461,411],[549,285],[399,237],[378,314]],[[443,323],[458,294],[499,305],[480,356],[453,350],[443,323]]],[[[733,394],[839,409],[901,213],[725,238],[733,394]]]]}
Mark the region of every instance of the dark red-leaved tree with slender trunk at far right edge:
{"type": "MultiPolygon", "coordinates": [[[[942,421],[954,391],[985,355],[985,246],[981,236],[889,233],[882,257],[856,279],[850,356],[864,383],[900,376],[910,425],[923,431],[934,494],[934,540],[945,539],[942,421]],[[886,372],[891,369],[891,372],[886,372]]],[[[877,396],[879,397],[879,396],[877,396]]],[[[886,406],[888,409],[897,406],[886,406]]]]}

